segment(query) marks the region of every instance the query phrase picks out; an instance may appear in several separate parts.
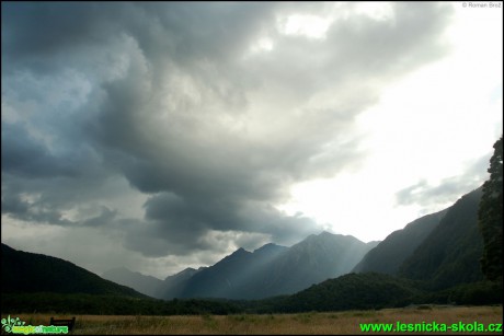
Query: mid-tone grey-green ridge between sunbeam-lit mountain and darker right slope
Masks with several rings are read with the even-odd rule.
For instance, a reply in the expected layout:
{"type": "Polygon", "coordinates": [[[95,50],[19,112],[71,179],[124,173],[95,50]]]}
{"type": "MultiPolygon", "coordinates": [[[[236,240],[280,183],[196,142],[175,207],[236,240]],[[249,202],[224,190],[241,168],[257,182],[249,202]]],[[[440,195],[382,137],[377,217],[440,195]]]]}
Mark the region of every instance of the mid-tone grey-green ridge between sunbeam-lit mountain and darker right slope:
{"type": "Polygon", "coordinates": [[[369,251],[352,271],[378,271],[394,275],[415,248],[436,228],[448,209],[424,216],[409,223],[402,230],[389,234],[369,251]]]}

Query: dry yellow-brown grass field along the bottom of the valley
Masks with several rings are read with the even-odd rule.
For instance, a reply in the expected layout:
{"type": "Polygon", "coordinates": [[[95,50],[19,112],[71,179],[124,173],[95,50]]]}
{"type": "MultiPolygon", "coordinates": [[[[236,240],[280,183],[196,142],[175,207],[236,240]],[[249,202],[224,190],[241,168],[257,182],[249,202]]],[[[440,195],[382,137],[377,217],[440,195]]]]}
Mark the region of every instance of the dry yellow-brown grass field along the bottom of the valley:
{"type": "MultiPolygon", "coordinates": [[[[163,334],[376,334],[364,333],[362,323],[481,323],[502,324],[502,306],[416,306],[379,311],[346,311],[273,315],[118,316],[77,315],[75,335],[163,335],[163,334]]],[[[50,316],[20,314],[25,325],[48,325],[50,316]]],[[[2,318],[7,317],[2,313],[2,318]]],[[[11,315],[11,317],[13,317],[11,315]]],[[[2,329],[2,334],[3,329],[2,329]]],[[[397,334],[397,333],[394,333],[397,334]]],[[[439,334],[439,333],[438,333],[439,334]]],[[[447,333],[474,334],[474,333],[447,333]]],[[[488,334],[488,333],[486,333],[488,334]]],[[[502,334],[502,333],[494,333],[502,334]]]]}

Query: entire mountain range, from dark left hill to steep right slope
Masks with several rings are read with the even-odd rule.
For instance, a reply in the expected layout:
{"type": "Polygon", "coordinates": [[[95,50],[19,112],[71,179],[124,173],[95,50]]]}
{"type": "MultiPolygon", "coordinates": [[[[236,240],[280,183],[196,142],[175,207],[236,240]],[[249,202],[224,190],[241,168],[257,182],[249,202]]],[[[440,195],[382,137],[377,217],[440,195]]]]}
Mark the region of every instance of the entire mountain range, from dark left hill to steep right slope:
{"type": "MultiPolygon", "coordinates": [[[[363,243],[350,235],[322,232],[290,247],[270,243],[253,252],[239,248],[213,266],[186,268],[164,280],[126,268],[105,273],[106,280],[69,262],[2,244],[2,296],[53,292],[192,300],[272,298],[257,302],[265,311],[285,312],[317,306],[379,308],[409,302],[414,296],[439,302],[457,296],[468,300],[467,286],[483,280],[483,243],[478,231],[481,196],[482,188],[478,188],[451,207],[392,232],[382,242],[363,243]],[[348,300],[355,304],[348,305],[348,300]]],[[[494,285],[474,286],[495,291],[494,285]]],[[[496,290],[502,292],[502,286],[496,290]]],[[[180,312],[174,305],[171,309],[180,312]]]]}

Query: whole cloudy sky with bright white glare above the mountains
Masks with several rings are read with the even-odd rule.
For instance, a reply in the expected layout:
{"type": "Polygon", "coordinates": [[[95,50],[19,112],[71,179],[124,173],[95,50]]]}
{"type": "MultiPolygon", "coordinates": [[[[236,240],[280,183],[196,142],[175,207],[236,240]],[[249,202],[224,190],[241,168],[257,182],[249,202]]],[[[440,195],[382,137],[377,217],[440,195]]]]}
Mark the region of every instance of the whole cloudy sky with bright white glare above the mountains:
{"type": "Polygon", "coordinates": [[[2,243],[165,278],[489,178],[497,2],[2,2],[2,243]],[[491,7],[494,5],[494,7],[491,7]]]}

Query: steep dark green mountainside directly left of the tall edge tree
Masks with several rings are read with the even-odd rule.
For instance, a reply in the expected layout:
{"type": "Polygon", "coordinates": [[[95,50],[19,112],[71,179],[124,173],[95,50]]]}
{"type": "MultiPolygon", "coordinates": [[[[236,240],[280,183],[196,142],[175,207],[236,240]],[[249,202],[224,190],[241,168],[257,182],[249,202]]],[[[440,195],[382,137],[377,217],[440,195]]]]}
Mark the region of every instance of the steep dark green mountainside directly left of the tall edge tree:
{"type": "Polygon", "coordinates": [[[483,239],[478,228],[482,188],[451,206],[439,224],[400,267],[401,276],[427,280],[435,288],[483,279],[483,239]]]}

